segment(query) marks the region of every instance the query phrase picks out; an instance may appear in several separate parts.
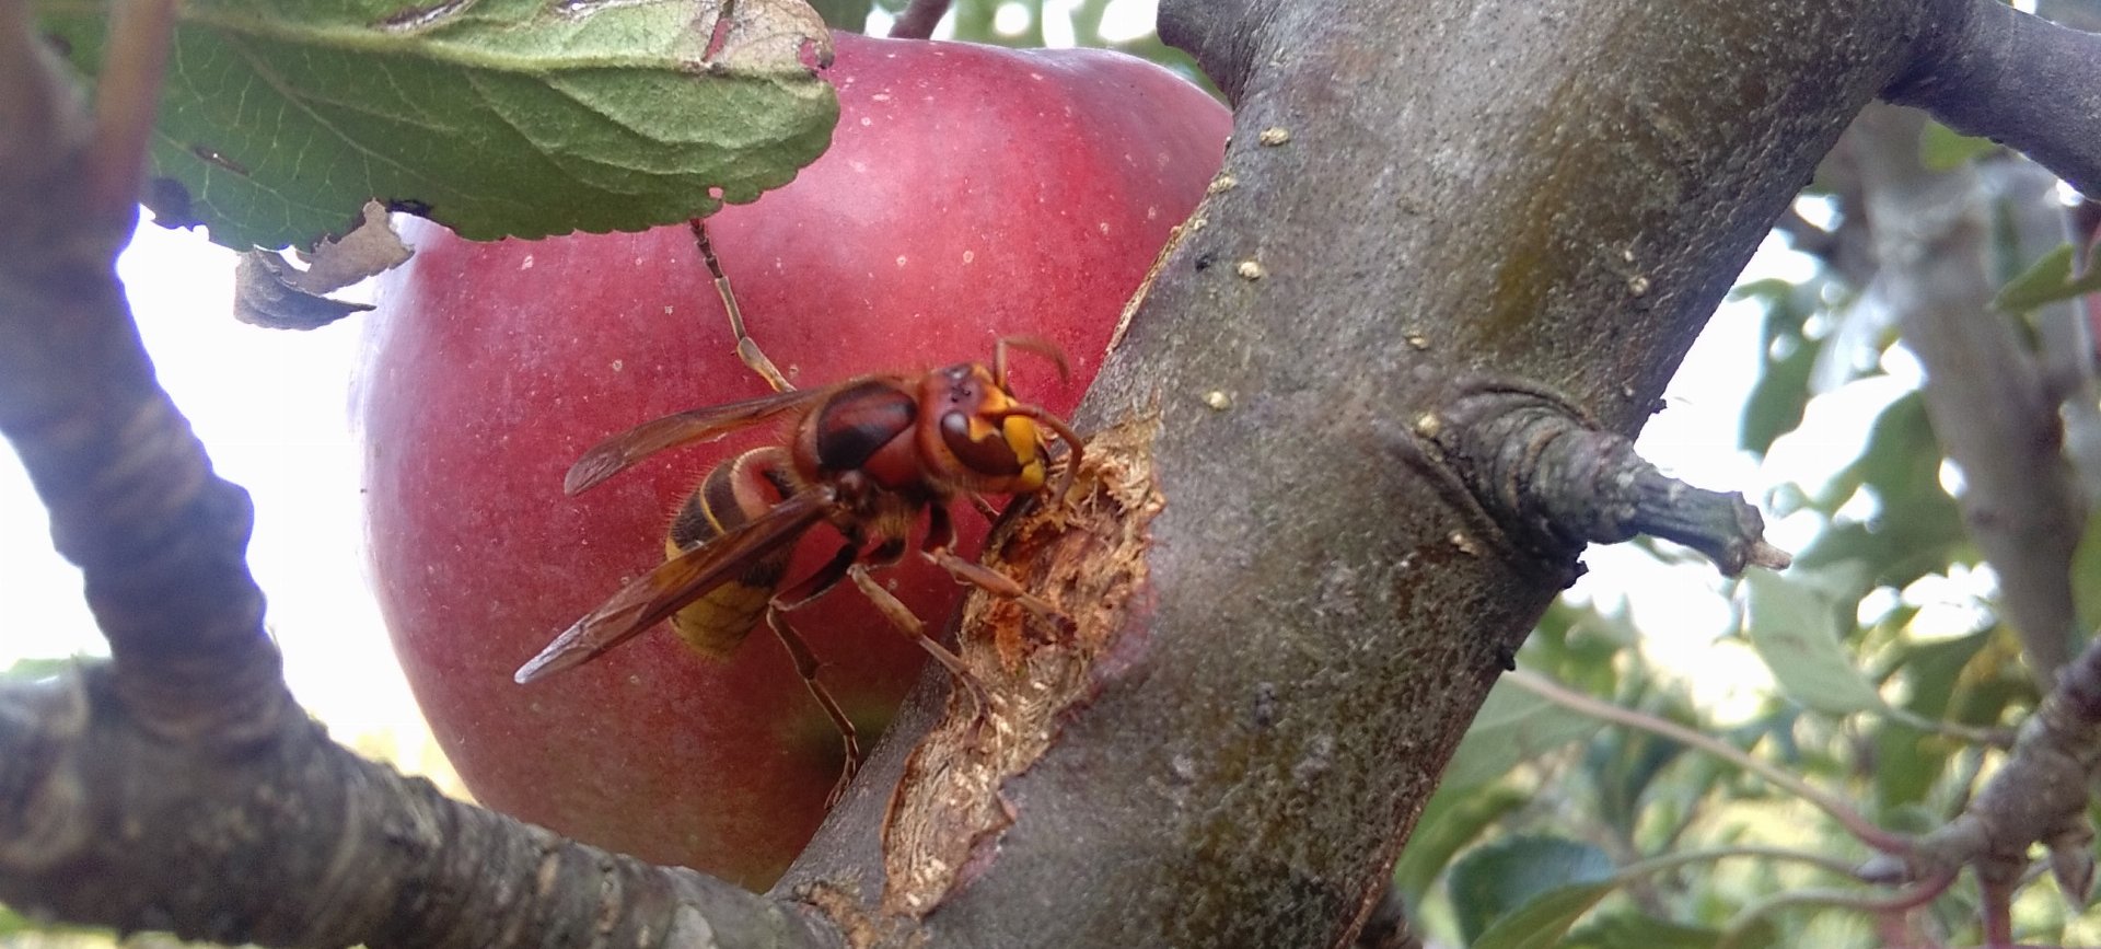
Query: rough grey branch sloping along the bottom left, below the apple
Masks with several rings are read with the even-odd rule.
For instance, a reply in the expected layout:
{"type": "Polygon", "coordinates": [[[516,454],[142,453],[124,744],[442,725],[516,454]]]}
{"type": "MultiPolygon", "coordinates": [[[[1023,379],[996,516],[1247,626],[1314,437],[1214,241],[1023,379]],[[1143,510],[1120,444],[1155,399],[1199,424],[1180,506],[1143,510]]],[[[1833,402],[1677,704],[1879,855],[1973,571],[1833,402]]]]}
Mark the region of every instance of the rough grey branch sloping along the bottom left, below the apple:
{"type": "Polygon", "coordinates": [[[305,716],[168,741],[111,670],[0,691],[0,901],[290,947],[811,945],[777,905],[443,798],[305,716]],[[132,831],[124,831],[132,827],[132,831]]]}

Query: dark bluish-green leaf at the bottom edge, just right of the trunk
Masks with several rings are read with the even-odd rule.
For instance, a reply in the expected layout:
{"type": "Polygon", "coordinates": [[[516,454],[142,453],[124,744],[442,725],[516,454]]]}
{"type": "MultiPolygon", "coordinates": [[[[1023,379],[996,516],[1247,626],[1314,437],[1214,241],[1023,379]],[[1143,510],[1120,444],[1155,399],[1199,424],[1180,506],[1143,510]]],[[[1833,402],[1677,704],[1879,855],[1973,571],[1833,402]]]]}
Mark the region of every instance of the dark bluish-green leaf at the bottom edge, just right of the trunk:
{"type": "Polygon", "coordinates": [[[1460,857],[1448,886],[1475,949],[1551,947],[1614,890],[1611,873],[1611,859],[1590,844],[1523,836],[1460,857]]]}

